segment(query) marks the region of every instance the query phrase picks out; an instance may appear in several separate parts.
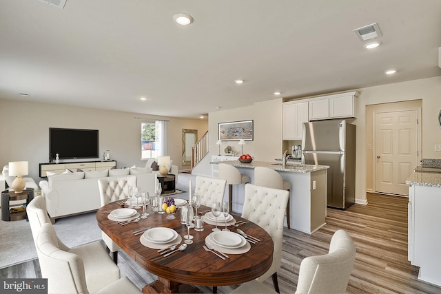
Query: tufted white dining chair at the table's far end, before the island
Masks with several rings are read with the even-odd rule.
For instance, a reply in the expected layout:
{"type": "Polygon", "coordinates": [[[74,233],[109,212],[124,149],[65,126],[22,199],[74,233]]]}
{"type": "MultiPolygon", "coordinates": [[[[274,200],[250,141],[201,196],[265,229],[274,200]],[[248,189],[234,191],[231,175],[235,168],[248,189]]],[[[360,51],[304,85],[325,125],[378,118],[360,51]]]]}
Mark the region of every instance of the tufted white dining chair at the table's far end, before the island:
{"type": "Polygon", "coordinates": [[[226,185],[227,181],[223,179],[196,176],[194,193],[201,196],[202,205],[212,207],[215,201],[222,203],[226,185]]]}

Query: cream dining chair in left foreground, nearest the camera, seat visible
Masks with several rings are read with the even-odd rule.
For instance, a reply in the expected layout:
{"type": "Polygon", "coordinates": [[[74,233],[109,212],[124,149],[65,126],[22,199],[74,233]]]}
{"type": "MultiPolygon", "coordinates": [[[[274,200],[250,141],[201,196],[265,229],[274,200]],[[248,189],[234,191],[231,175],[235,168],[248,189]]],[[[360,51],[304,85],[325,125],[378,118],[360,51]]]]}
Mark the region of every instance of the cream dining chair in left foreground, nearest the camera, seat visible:
{"type": "Polygon", "coordinates": [[[119,269],[105,250],[86,244],[66,251],[52,224],[43,224],[37,235],[41,275],[48,279],[48,293],[142,293],[119,269]],[[115,268],[112,273],[109,267],[115,268]]]}

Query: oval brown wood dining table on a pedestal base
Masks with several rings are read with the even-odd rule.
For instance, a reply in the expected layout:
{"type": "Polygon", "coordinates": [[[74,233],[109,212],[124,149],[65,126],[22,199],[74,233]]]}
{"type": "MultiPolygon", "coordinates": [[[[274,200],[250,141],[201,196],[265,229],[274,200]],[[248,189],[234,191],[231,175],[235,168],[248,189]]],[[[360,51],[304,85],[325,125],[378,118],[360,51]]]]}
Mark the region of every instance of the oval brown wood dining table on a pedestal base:
{"type": "MultiPolygon", "coordinates": [[[[271,236],[254,222],[245,220],[240,216],[234,216],[236,221],[245,220],[245,224],[239,227],[229,226],[232,232],[242,229],[252,235],[260,242],[251,244],[251,249],[243,254],[227,254],[229,258],[222,260],[214,253],[205,251],[203,245],[205,238],[212,233],[214,225],[205,223],[204,231],[198,232],[190,229],[193,235],[193,244],[188,244],[185,251],[178,251],[164,258],[157,252],[140,242],[141,235],[134,235],[133,232],[146,227],[167,227],[174,229],[181,235],[187,235],[187,227],[181,224],[180,210],[176,211],[176,219],[165,218],[167,213],[159,214],[152,211],[150,207],[147,212],[150,214],[147,219],[139,222],[132,222],[121,226],[118,222],[109,220],[108,214],[104,211],[122,207],[116,202],[106,204],[96,212],[96,220],[103,230],[116,244],[118,244],[127,255],[150,273],[157,275],[158,280],[143,288],[143,293],[189,293],[197,291],[189,285],[201,286],[226,286],[241,284],[256,279],[263,275],[272,264],[274,244],[271,236]]],[[[201,206],[198,211],[207,211],[209,207],[201,206]]],[[[142,209],[139,210],[142,212],[142,209]]],[[[222,222],[218,227],[223,229],[222,222]]],[[[176,247],[177,248],[177,247],[176,247]]]]}

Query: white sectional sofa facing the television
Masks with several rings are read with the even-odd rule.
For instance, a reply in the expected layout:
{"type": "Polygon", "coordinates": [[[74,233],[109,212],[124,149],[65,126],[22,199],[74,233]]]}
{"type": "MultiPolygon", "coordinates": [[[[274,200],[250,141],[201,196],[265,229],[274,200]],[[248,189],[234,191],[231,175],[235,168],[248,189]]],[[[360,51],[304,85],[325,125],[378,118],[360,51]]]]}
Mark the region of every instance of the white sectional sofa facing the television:
{"type": "Polygon", "coordinates": [[[127,182],[154,195],[154,173],[148,168],[110,169],[56,174],[41,180],[41,196],[45,198],[52,221],[64,216],[95,211],[101,207],[99,178],[127,178],[127,182]]]}

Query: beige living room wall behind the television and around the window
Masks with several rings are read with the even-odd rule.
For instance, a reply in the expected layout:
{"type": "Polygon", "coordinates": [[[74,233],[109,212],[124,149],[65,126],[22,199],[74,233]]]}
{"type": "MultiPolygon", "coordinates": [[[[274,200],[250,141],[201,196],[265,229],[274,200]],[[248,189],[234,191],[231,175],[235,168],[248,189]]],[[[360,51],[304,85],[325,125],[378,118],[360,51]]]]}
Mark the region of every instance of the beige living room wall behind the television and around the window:
{"type": "MultiPolygon", "coordinates": [[[[178,169],[186,169],[181,165],[182,129],[197,129],[200,138],[207,131],[207,120],[0,100],[0,138],[3,138],[0,166],[9,161],[28,160],[29,176],[38,183],[39,163],[49,162],[49,127],[98,129],[100,155],[110,149],[110,159],[116,160],[118,167],[144,166],[145,162],[141,160],[141,121],[155,119],[169,120],[168,155],[178,169]]],[[[62,162],[67,161],[74,160],[62,162]]]]}

